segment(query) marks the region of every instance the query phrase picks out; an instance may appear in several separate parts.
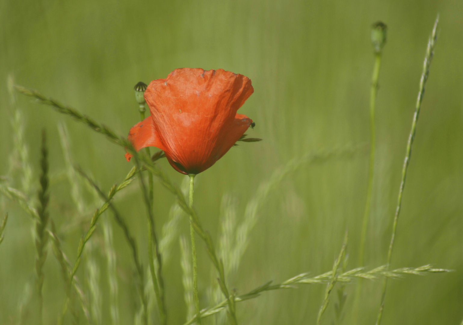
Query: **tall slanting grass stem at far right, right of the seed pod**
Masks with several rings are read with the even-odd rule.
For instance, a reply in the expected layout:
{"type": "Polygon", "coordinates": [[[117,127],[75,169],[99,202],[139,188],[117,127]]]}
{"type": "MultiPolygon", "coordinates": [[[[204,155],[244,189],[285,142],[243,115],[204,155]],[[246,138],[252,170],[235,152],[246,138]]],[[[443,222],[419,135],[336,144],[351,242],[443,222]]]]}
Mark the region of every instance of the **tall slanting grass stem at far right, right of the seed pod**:
{"type": "MultiPolygon", "coordinates": [[[[416,133],[416,123],[418,121],[419,111],[421,108],[421,102],[423,101],[423,96],[425,94],[425,85],[426,85],[426,81],[429,76],[429,67],[431,66],[432,56],[434,55],[434,48],[436,46],[438,23],[439,23],[439,16],[437,16],[436,18],[434,27],[432,29],[431,37],[429,38],[429,41],[428,41],[425,61],[423,63],[423,72],[421,74],[421,79],[419,81],[418,98],[416,100],[415,113],[413,115],[412,129],[410,130],[410,134],[408,136],[407,150],[406,150],[405,160],[404,160],[403,167],[402,167],[402,180],[400,181],[399,196],[397,198],[397,207],[395,209],[394,222],[392,225],[392,236],[391,236],[391,241],[389,243],[388,262],[386,264],[388,269],[391,263],[392,250],[394,248],[394,239],[395,239],[395,233],[397,231],[397,221],[399,220],[400,207],[402,205],[402,193],[403,193],[404,186],[405,186],[405,180],[407,178],[408,164],[410,162],[410,156],[412,155],[412,145],[413,145],[413,140],[415,138],[415,133],[416,133]]],[[[379,308],[378,317],[376,319],[376,325],[381,324],[387,285],[388,285],[388,280],[387,278],[385,278],[383,281],[383,285],[382,285],[381,305],[379,308]]]]}

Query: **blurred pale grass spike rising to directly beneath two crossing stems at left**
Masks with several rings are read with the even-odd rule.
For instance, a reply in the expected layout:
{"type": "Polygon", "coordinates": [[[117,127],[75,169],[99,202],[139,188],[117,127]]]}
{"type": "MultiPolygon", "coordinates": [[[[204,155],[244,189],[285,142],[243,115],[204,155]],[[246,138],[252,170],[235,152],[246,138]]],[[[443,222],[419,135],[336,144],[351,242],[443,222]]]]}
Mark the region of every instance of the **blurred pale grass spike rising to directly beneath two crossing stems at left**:
{"type": "Polygon", "coordinates": [[[119,292],[116,269],[116,252],[113,247],[113,228],[107,220],[103,222],[103,237],[106,251],[106,269],[109,282],[109,313],[112,325],[119,325],[119,308],[117,297],[119,292]]]}

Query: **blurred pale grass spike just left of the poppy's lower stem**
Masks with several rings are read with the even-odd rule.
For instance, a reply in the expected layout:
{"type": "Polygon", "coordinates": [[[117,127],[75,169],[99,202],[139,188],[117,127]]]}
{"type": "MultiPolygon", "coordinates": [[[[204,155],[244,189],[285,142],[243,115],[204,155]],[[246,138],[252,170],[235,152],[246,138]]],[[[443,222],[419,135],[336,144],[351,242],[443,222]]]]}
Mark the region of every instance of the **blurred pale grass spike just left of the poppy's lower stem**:
{"type": "Polygon", "coordinates": [[[185,236],[180,237],[180,265],[182,270],[181,282],[184,290],[184,300],[187,306],[187,320],[194,316],[194,299],[193,299],[193,266],[191,265],[191,251],[188,239],[185,236]]]}

